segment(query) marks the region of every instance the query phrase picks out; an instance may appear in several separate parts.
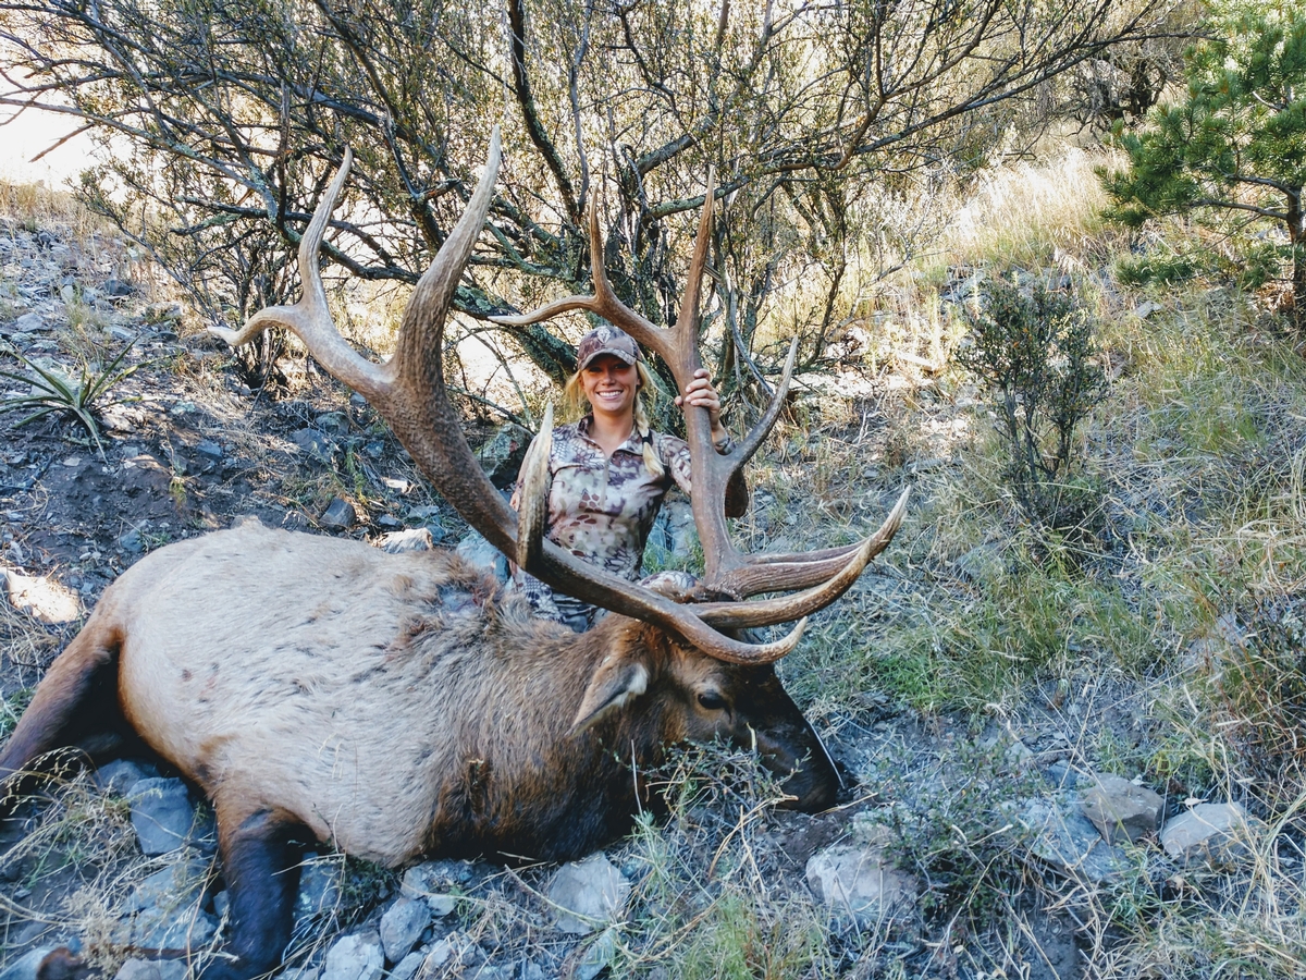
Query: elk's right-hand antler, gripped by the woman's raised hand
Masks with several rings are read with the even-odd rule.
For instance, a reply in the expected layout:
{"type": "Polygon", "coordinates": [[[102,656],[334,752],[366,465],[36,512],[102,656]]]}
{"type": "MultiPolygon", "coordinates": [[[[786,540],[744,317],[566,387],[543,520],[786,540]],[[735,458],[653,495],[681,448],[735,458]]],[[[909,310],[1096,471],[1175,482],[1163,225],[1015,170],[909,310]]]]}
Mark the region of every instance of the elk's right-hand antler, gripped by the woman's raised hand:
{"type": "MultiPolygon", "coordinates": [[[[712,234],[714,183],[709,171],[703,212],[699,216],[699,234],[693,243],[693,257],[690,261],[690,273],[675,327],[656,327],[616,298],[603,268],[603,239],[598,230],[597,201],[592,203],[589,209],[589,256],[594,294],[558,299],[521,316],[492,316],[490,319],[504,325],[524,327],[571,310],[586,310],[616,324],[637,342],[656,350],[671,368],[678,388],[682,392],[686,391],[695,371],[703,365],[699,355],[699,290],[712,234]]],[[[909,491],[904,490],[879,531],[865,541],[846,547],[803,554],[754,555],[742,553],[734,546],[726,525],[726,483],[752,457],[780,417],[780,409],[793,378],[797,353],[798,338],[795,337],[789,346],[785,370],[771,404],[743,442],[729,452],[718,453],[712,444],[708,410],[704,408],[686,409],[690,478],[693,487],[691,507],[699,538],[703,541],[704,588],[737,598],[747,598],[761,592],[808,589],[764,602],[696,604],[695,612],[704,622],[710,622],[713,626],[722,629],[771,626],[791,622],[829,605],[848,591],[866,564],[888,546],[906,511],[909,491]]]]}

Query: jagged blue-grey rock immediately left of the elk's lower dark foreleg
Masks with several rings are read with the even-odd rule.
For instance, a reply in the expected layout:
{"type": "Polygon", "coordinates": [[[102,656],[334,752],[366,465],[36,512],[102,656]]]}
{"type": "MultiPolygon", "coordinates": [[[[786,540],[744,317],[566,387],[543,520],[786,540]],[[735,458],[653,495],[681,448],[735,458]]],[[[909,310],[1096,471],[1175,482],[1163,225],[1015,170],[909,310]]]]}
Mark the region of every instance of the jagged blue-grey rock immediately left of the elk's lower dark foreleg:
{"type": "Polygon", "coordinates": [[[217,920],[200,908],[208,877],[209,862],[193,857],[151,874],[123,903],[114,942],[155,950],[206,943],[218,930],[217,920]]]}

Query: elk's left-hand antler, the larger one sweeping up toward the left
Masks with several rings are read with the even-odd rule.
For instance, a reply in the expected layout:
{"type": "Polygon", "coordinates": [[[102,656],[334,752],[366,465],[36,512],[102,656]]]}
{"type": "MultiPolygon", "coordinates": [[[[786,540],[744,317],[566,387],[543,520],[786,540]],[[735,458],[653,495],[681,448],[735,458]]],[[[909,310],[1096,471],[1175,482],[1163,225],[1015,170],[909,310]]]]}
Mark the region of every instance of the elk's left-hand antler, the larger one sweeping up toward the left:
{"type": "MultiPolygon", "coordinates": [[[[441,362],[444,321],[490,210],[499,159],[499,128],[495,127],[481,183],[431,268],[413,290],[400,324],[394,355],[387,363],[376,365],[359,357],[340,336],[332,323],[326,290],[317,268],[326,223],[349,174],[349,152],[299,243],[303,298],[294,306],[261,310],[240,331],[210,329],[231,345],[247,344],[261,331],[274,325],[286,327],[298,335],[323,367],[376,408],[422,473],[468,524],[504,554],[525,558],[526,571],[559,592],[675,632],[720,660],[735,664],[778,660],[798,644],[806,621],[774,643],[742,643],[720,632],[727,623],[718,622],[716,609],[707,610],[712,618],[709,623],[708,618],[697,614],[695,606],[678,605],[658,592],[589,564],[552,542],[541,540],[538,529],[522,534],[518,547],[517,515],[486,478],[462,435],[462,421],[445,392],[441,362]]],[[[537,493],[535,497],[538,495],[537,493]]],[[[793,618],[786,617],[786,621],[793,618]]]]}

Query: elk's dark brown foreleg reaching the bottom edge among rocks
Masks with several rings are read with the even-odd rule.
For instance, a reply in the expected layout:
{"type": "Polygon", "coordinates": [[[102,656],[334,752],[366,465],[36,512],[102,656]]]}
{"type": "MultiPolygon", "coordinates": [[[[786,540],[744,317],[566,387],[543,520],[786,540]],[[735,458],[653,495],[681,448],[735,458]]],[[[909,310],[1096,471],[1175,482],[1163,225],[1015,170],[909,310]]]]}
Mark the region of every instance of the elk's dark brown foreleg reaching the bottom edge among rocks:
{"type": "Polygon", "coordinates": [[[285,811],[257,810],[232,830],[218,804],[218,855],[231,899],[231,939],[235,960],[217,960],[204,980],[247,980],[281,963],[294,925],[302,851],[296,839],[306,832],[285,811]]]}

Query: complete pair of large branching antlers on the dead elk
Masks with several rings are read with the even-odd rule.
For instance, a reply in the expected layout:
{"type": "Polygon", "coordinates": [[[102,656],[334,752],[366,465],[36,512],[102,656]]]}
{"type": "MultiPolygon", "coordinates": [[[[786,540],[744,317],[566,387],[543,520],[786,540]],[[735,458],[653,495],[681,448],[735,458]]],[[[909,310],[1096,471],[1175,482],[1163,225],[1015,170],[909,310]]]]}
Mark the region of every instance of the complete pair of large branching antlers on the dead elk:
{"type": "MultiPolygon", "coordinates": [[[[326,307],[319,272],[319,250],[330,212],[349,174],[351,155],[343,163],[299,244],[299,272],[304,295],[294,306],[277,306],[255,314],[244,328],[210,328],[231,345],[246,344],[273,325],[291,329],[338,380],[366,397],[390,425],[423,474],[473,528],[522,568],[556,591],[585,602],[658,626],[704,653],[734,664],[771,664],[798,643],[808,614],[841,596],[861,575],[867,562],[893,537],[906,508],[904,491],[883,525],[865,541],[806,554],[747,555],[730,541],[725,519],[725,486],[730,476],[757,451],[780,414],[793,374],[797,341],[790,348],[774,397],[763,418],[726,455],[712,446],[705,409],[687,413],[692,507],[703,541],[707,571],[692,596],[674,601],[657,591],[613,575],[576,558],[543,536],[545,477],[547,476],[546,413],[543,438],[526,464],[520,516],[485,477],[462,435],[461,418],[449,402],[444,384],[441,348],[444,321],[454,289],[485,225],[499,170],[499,128],[490,140],[488,161],[466,212],[445,239],[431,267],[418,281],[404,312],[394,355],[384,365],[367,361],[340,336],[326,307]],[[788,592],[777,598],[754,600],[764,592],[788,592]],[[693,601],[701,597],[729,601],[693,601]],[[798,619],[786,636],[771,643],[750,643],[734,632],[798,619]]],[[[700,366],[697,349],[699,290],[707,261],[712,222],[713,189],[704,196],[703,214],[690,269],[690,281],[674,329],[660,328],[613,294],[602,265],[602,239],[597,210],[590,210],[590,259],[594,295],[550,303],[520,318],[499,318],[504,324],[535,323],[567,310],[589,310],[616,324],[640,344],[656,350],[671,367],[683,389],[700,366]]]]}

